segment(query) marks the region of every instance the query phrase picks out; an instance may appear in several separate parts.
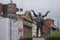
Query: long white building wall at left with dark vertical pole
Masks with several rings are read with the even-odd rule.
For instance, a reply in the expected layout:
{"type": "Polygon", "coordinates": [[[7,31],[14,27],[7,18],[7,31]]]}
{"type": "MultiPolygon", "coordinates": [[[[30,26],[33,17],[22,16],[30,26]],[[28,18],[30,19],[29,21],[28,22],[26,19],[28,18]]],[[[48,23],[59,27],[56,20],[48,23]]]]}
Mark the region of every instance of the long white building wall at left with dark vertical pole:
{"type": "Polygon", "coordinates": [[[18,20],[0,17],[0,40],[18,40],[18,20]]]}

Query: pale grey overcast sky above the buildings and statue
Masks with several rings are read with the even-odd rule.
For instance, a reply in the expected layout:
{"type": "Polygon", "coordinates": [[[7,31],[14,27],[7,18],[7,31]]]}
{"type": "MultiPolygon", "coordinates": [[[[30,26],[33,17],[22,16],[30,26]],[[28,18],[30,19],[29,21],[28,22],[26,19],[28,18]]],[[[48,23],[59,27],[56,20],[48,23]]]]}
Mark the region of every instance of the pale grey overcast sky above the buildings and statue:
{"type": "MultiPolygon", "coordinates": [[[[0,3],[9,3],[10,0],[0,0],[0,3]]],[[[18,8],[22,7],[22,0],[13,0],[18,8]]],[[[44,15],[48,10],[51,11],[46,18],[60,20],[60,0],[23,0],[23,8],[26,10],[35,10],[36,13],[41,12],[44,15]]],[[[60,21],[59,21],[60,22],[60,21]]]]}

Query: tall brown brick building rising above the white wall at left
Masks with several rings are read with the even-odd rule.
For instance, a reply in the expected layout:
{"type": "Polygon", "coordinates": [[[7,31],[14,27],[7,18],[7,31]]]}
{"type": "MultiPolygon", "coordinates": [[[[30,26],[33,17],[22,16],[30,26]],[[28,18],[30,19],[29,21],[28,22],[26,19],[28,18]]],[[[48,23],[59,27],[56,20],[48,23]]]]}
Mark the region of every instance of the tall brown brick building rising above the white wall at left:
{"type": "Polygon", "coordinates": [[[16,4],[2,4],[0,3],[0,16],[3,17],[16,17],[16,4]]]}

